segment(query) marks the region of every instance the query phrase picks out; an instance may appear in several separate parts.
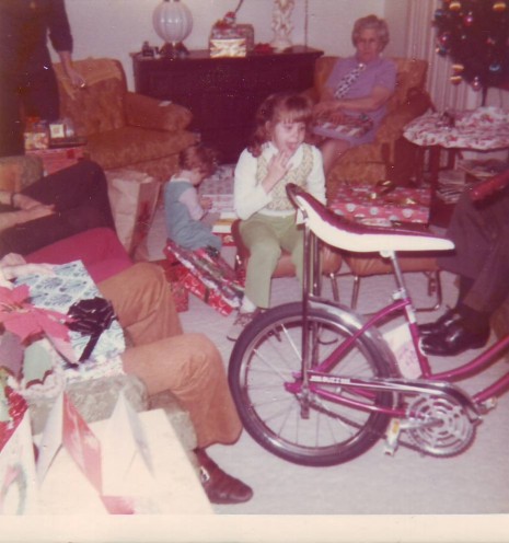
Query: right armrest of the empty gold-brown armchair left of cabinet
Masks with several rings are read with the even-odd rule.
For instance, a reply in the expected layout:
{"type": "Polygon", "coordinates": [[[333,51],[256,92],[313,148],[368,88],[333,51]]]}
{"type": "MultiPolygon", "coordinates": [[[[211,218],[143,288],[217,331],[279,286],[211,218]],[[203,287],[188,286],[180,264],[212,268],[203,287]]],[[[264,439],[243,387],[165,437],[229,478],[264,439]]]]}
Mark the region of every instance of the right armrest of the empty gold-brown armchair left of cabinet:
{"type": "Polygon", "coordinates": [[[143,94],[127,92],[125,97],[128,125],[176,132],[186,128],[193,115],[186,107],[143,94]]]}

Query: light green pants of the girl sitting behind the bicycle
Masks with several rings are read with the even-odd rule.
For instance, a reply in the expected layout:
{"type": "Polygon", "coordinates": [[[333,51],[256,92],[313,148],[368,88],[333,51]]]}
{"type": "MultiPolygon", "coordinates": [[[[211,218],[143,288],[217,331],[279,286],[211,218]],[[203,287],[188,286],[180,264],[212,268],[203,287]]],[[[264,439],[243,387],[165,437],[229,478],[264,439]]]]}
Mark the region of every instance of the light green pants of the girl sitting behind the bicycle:
{"type": "Polygon", "coordinates": [[[240,224],[240,233],[251,256],[245,277],[245,296],[258,308],[270,305],[270,280],[281,251],[291,253],[297,277],[302,285],[303,231],[296,217],[268,217],[255,213],[240,224]]]}

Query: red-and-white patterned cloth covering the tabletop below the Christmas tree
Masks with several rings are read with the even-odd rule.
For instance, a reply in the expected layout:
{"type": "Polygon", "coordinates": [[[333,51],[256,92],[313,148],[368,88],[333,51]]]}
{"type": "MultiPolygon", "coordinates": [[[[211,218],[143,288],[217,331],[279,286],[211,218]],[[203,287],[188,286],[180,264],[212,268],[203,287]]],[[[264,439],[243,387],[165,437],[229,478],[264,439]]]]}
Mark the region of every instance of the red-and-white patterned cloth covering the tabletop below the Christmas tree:
{"type": "Polygon", "coordinates": [[[475,149],[509,147],[509,113],[498,107],[450,114],[449,123],[440,113],[428,113],[405,127],[404,136],[418,146],[475,149]],[[451,126],[452,125],[452,126],[451,126]]]}

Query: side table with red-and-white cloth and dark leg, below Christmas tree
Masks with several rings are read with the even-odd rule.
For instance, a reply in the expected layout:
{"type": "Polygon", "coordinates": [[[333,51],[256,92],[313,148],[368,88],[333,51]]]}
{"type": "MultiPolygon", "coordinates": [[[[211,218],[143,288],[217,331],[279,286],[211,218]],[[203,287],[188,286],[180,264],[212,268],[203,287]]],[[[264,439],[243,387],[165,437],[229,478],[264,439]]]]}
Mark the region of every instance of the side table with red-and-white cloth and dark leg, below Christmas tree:
{"type": "Polygon", "coordinates": [[[449,222],[453,205],[446,205],[437,195],[441,153],[448,152],[448,167],[452,167],[456,151],[509,148],[509,112],[488,106],[455,112],[447,118],[440,113],[427,113],[405,127],[404,137],[421,148],[421,155],[429,150],[430,222],[443,227],[449,222]]]}

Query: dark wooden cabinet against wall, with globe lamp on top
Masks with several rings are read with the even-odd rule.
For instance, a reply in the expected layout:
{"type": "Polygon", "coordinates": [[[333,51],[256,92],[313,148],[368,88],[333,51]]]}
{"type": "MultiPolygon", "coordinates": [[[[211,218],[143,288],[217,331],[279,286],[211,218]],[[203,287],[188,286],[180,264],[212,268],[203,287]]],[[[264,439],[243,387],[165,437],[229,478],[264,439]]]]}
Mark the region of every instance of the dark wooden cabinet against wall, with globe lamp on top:
{"type": "Polygon", "coordinates": [[[236,162],[253,130],[254,115],[266,96],[313,85],[314,62],[323,53],[292,47],[280,54],[211,58],[208,50],[184,59],[132,55],[136,92],[171,100],[193,112],[192,129],[236,162]]]}

